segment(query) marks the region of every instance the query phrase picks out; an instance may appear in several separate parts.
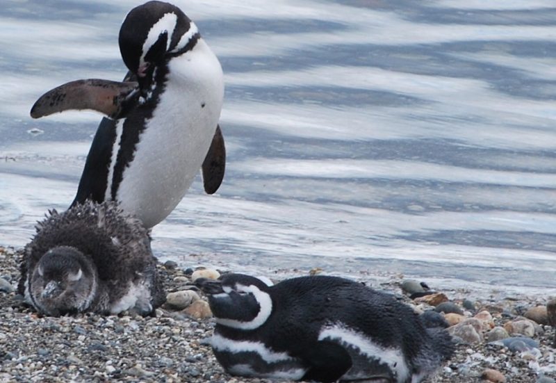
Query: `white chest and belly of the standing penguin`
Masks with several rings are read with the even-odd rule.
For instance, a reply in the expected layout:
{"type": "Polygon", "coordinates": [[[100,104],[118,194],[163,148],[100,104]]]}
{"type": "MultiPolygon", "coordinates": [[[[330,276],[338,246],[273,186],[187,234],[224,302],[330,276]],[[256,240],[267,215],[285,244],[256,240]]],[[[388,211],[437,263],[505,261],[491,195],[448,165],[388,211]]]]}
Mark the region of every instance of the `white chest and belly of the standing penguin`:
{"type": "Polygon", "coordinates": [[[166,218],[193,183],[211,145],[223,96],[222,68],[202,39],[169,61],[165,90],[145,121],[116,195],[145,227],[166,218]]]}

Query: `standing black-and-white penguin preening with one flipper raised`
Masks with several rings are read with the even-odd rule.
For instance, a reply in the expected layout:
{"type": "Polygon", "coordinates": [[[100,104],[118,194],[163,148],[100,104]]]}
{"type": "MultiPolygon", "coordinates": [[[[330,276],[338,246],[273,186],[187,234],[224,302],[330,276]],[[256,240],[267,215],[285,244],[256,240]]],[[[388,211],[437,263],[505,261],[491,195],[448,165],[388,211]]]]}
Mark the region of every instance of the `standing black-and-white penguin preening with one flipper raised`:
{"type": "Polygon", "coordinates": [[[151,228],[177,206],[199,169],[206,193],[222,183],[222,67],[195,23],[161,1],[126,15],[119,45],[129,70],[124,81],[65,83],[42,95],[31,117],[104,113],[71,206],[118,201],[151,228]]]}

